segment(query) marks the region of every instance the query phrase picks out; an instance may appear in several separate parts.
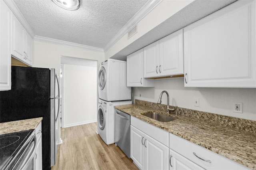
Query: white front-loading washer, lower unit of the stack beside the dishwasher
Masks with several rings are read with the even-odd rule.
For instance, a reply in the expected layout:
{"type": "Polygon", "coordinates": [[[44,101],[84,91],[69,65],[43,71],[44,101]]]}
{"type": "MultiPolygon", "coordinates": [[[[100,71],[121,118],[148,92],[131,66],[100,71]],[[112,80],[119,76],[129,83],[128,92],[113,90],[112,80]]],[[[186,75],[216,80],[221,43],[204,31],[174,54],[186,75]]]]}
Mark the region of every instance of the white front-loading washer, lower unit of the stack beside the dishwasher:
{"type": "Polygon", "coordinates": [[[106,144],[114,143],[115,139],[115,109],[114,106],[129,105],[132,101],[108,102],[99,99],[98,105],[98,133],[106,144]]]}

